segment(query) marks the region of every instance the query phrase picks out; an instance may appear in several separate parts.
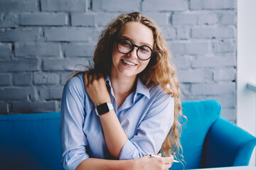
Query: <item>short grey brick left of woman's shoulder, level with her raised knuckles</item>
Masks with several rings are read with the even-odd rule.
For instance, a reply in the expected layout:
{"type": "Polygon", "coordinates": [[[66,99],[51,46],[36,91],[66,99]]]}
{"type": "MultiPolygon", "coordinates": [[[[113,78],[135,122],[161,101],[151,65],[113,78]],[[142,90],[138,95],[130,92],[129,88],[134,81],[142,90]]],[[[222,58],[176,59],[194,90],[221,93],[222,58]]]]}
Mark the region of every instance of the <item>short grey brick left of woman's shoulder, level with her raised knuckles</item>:
{"type": "Polygon", "coordinates": [[[34,73],[33,83],[36,85],[42,84],[60,84],[60,77],[54,73],[34,73]]]}

